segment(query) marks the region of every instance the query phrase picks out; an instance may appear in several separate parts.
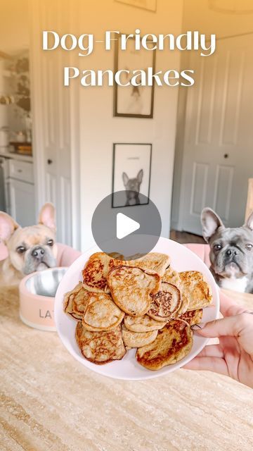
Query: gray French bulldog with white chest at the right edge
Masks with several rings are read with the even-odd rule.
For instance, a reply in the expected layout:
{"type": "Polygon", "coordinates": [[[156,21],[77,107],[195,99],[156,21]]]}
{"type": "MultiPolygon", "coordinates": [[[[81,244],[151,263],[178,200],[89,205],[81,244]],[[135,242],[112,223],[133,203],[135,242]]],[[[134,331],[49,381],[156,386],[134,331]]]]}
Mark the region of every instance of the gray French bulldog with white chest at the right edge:
{"type": "Polygon", "coordinates": [[[243,226],[226,228],[215,211],[205,208],[201,223],[216,283],[221,288],[253,293],[253,213],[243,226]]]}

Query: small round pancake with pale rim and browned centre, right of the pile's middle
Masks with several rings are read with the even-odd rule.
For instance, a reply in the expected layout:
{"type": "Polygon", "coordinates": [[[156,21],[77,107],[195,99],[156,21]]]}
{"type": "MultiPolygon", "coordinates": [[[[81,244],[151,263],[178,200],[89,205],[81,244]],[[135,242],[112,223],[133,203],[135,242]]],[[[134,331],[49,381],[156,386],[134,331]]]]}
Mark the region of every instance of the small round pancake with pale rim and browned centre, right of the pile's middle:
{"type": "Polygon", "coordinates": [[[181,306],[179,288],[171,283],[162,282],[161,290],[156,295],[151,295],[151,298],[148,316],[156,321],[169,321],[181,306]]]}

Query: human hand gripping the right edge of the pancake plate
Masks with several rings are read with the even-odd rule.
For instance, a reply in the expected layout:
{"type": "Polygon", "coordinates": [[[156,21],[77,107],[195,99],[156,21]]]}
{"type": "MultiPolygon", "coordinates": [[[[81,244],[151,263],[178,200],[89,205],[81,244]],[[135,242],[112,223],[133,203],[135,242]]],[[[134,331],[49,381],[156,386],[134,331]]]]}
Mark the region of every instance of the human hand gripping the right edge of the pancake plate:
{"type": "Polygon", "coordinates": [[[197,330],[202,337],[219,337],[219,345],[207,345],[183,368],[225,374],[253,388],[253,314],[224,295],[221,314],[223,319],[197,330]]]}

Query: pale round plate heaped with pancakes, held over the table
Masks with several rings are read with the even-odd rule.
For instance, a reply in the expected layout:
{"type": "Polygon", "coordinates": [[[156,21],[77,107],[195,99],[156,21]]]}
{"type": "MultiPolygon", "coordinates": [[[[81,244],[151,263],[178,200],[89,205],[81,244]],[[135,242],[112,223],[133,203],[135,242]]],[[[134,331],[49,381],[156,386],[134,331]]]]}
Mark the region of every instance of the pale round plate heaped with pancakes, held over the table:
{"type": "MultiPolygon", "coordinates": [[[[162,376],[164,374],[170,373],[179,369],[181,366],[190,362],[193,357],[195,357],[199,352],[205,347],[208,342],[208,338],[202,338],[200,336],[194,335],[193,347],[190,353],[184,357],[180,362],[176,364],[164,366],[164,368],[159,371],[150,371],[143,368],[135,359],[136,350],[130,350],[126,352],[126,355],[122,360],[111,362],[105,365],[96,365],[88,360],[86,360],[77,346],[74,338],[74,331],[77,322],[70,318],[63,311],[63,296],[65,292],[72,290],[75,285],[82,280],[82,269],[88,261],[91,254],[98,252],[100,249],[94,247],[87,252],[84,252],[79,259],[74,261],[72,266],[68,268],[65,276],[58,286],[56,292],[56,304],[55,304],[55,321],[60,340],[67,350],[72,354],[74,359],[86,366],[87,368],[95,371],[96,373],[103,374],[103,376],[108,376],[110,378],[126,379],[130,381],[151,379],[157,376],[162,376]]],[[[176,271],[201,271],[205,278],[207,279],[209,285],[211,285],[213,292],[213,304],[212,307],[207,307],[203,311],[202,321],[205,323],[207,321],[212,321],[219,317],[219,292],[217,285],[214,281],[212,274],[210,273],[207,266],[203,261],[193,254],[190,249],[187,249],[183,245],[172,240],[167,240],[166,238],[160,238],[157,245],[154,247],[153,252],[163,252],[164,254],[169,254],[171,257],[171,266],[176,269],[176,271]]]]}

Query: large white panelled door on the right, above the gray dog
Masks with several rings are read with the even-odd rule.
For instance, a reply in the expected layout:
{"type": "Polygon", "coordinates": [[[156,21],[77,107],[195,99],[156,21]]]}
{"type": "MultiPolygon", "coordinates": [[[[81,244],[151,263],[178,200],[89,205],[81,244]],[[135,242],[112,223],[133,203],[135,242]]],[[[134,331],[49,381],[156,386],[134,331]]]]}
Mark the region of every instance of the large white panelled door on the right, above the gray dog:
{"type": "Polygon", "coordinates": [[[253,177],[253,35],[220,39],[214,56],[191,55],[179,228],[201,234],[210,206],[225,225],[242,225],[253,177]]]}

